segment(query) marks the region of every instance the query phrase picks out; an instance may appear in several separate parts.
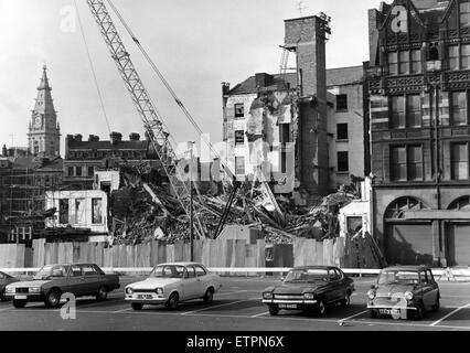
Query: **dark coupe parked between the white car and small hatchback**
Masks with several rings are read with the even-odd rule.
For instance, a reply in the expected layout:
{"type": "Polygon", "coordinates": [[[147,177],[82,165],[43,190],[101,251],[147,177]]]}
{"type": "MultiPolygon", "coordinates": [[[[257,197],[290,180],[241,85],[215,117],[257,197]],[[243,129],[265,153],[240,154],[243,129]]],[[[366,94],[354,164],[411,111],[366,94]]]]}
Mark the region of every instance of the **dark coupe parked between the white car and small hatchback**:
{"type": "Polygon", "coordinates": [[[324,315],[327,306],[350,306],[354,281],[338,267],[297,267],[289,271],[282,285],[263,292],[263,302],[271,315],[279,310],[303,310],[324,315]]]}

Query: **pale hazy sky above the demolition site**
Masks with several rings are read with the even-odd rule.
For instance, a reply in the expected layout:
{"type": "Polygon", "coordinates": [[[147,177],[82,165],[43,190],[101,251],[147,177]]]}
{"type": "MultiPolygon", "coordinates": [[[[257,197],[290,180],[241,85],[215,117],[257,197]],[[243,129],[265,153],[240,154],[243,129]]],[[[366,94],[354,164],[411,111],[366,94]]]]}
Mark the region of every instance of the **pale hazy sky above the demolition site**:
{"type": "MultiPolygon", "coordinates": [[[[143,128],[85,0],[0,0],[0,145],[26,146],[42,66],[62,132],[127,139],[143,128]],[[75,1],[77,7],[75,8],[75,1]],[[83,32],[78,18],[83,23],[83,32]]],[[[136,36],[213,143],[222,138],[222,82],[278,73],[284,20],[320,11],[332,18],[329,68],[367,61],[367,9],[378,0],[114,0],[136,36]]],[[[111,13],[113,15],[113,13],[111,13]]],[[[116,17],[115,24],[142,82],[178,142],[197,140],[183,113],[142,60],[116,17]]]]}

